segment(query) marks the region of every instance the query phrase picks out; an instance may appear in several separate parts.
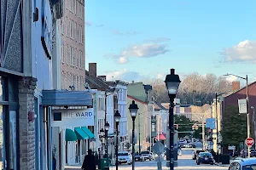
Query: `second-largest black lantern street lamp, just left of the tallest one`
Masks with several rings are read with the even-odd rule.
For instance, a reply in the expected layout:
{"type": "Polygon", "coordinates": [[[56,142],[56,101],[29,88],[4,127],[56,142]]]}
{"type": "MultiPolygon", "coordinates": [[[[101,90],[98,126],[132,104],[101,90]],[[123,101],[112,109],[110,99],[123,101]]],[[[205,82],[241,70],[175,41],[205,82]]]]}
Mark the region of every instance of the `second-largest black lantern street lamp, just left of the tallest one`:
{"type": "Polygon", "coordinates": [[[137,116],[137,111],[138,111],[138,107],[137,104],[135,104],[135,101],[132,100],[131,105],[129,106],[129,110],[131,113],[131,119],[132,119],[132,170],[134,170],[134,166],[135,166],[135,150],[134,150],[134,128],[135,128],[135,118],[137,116]]]}

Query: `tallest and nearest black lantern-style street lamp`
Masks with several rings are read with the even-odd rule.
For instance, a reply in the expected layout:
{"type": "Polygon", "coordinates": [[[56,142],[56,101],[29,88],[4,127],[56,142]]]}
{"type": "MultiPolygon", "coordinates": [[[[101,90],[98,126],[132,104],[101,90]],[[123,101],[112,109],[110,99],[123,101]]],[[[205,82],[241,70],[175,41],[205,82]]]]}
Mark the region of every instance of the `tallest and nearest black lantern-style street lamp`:
{"type": "Polygon", "coordinates": [[[170,130],[170,169],[174,169],[174,151],[173,151],[173,145],[174,145],[174,127],[173,127],[173,108],[174,108],[174,99],[176,98],[177,94],[177,88],[179,86],[179,83],[181,82],[179,80],[178,75],[174,74],[174,69],[171,69],[171,74],[166,75],[166,88],[168,90],[168,95],[170,99],[170,108],[169,108],[169,130],[170,130]]]}

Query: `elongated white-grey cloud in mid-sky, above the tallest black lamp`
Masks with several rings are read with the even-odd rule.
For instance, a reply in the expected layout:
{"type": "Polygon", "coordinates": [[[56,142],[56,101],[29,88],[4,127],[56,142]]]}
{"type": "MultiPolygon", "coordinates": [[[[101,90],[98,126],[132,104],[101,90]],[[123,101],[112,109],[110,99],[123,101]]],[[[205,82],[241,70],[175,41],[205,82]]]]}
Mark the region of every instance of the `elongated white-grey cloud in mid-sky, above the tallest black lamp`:
{"type": "Polygon", "coordinates": [[[128,62],[129,58],[150,58],[160,54],[166,54],[170,50],[164,44],[158,43],[143,43],[138,45],[131,45],[125,48],[120,54],[114,54],[113,57],[117,58],[120,64],[128,62]]]}

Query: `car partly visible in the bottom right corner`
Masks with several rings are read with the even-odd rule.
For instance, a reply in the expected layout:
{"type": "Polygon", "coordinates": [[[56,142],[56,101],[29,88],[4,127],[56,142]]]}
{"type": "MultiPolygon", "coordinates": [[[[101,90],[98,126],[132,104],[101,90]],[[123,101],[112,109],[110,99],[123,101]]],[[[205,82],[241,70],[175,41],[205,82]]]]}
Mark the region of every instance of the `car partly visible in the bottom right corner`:
{"type": "Polygon", "coordinates": [[[239,158],[230,164],[229,170],[241,169],[241,170],[253,170],[256,168],[256,158],[239,158]]]}

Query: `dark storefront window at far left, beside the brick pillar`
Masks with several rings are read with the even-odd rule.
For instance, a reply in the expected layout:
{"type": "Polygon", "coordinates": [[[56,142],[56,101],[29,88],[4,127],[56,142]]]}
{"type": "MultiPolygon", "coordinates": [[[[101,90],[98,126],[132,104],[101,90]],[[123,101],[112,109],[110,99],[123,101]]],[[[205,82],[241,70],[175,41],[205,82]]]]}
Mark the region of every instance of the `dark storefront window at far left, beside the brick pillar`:
{"type": "Polygon", "coordinates": [[[18,79],[10,75],[0,75],[0,169],[17,169],[18,79]]]}

